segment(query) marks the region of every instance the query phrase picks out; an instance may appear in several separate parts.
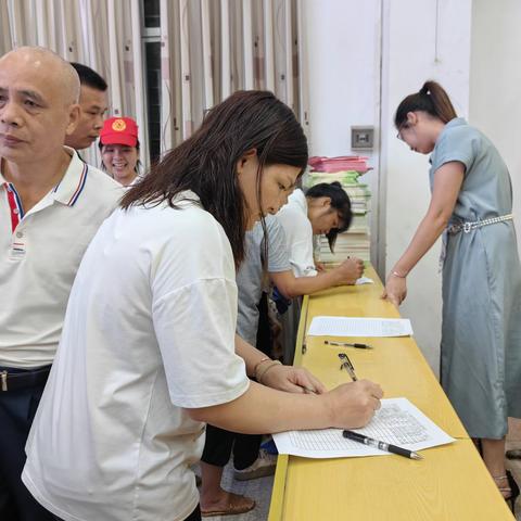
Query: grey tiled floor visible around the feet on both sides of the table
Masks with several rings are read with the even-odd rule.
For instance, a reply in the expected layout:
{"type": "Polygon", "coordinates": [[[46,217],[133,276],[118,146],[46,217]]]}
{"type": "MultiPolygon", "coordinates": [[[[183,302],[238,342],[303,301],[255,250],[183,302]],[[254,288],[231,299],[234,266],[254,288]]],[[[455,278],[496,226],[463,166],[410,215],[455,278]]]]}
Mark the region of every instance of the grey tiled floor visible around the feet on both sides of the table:
{"type": "MultiPolygon", "coordinates": [[[[521,448],[521,420],[510,420],[507,439],[507,449],[508,448],[521,448]]],[[[507,467],[521,485],[521,460],[507,460],[507,467]]],[[[215,521],[266,521],[268,519],[271,487],[274,484],[272,476],[239,482],[233,480],[232,469],[227,467],[225,469],[223,483],[224,487],[228,491],[253,497],[257,506],[251,512],[242,516],[218,516],[208,519],[215,521]]],[[[516,507],[517,520],[521,521],[521,496],[518,497],[516,507]]]]}

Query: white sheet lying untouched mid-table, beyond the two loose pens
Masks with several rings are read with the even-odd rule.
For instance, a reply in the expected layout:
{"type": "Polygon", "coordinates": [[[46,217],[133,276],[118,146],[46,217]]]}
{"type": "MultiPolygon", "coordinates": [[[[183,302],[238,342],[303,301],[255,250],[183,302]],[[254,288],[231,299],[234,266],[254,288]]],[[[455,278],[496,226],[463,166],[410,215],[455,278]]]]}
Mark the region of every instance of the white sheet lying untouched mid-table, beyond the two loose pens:
{"type": "Polygon", "coordinates": [[[408,318],[315,317],[307,334],[314,336],[408,336],[408,318]]]}

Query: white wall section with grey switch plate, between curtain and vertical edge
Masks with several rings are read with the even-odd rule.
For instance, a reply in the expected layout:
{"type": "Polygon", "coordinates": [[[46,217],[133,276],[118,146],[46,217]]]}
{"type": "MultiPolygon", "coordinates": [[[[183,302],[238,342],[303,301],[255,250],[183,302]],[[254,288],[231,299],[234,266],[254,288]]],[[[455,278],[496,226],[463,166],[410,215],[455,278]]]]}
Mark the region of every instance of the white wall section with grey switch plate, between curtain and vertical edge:
{"type": "MultiPolygon", "coordinates": [[[[352,152],[351,126],[379,127],[380,0],[301,0],[300,5],[310,155],[368,155],[374,169],[361,180],[377,193],[378,144],[373,152],[352,152]]],[[[378,212],[373,204],[373,263],[378,262],[378,212]]]]}

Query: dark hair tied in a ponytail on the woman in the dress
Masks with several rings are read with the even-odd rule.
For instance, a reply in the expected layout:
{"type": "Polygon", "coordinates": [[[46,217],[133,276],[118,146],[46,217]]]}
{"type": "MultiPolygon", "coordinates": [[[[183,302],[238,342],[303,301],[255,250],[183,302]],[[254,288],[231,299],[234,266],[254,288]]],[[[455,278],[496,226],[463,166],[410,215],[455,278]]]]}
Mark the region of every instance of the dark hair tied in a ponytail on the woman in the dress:
{"type": "Polygon", "coordinates": [[[433,80],[428,80],[418,92],[405,98],[396,110],[394,125],[396,128],[407,120],[409,112],[423,111],[440,118],[443,123],[458,117],[445,89],[433,80]]]}

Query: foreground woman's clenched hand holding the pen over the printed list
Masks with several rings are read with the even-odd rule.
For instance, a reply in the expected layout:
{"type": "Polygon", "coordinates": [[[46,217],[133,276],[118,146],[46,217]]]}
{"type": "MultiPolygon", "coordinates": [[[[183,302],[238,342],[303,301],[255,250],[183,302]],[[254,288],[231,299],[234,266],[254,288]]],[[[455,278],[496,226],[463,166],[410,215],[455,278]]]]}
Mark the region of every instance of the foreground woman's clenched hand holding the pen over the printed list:
{"type": "Polygon", "coordinates": [[[330,402],[331,427],[357,429],[369,423],[381,407],[383,391],[369,380],[344,383],[323,395],[330,402]]]}

